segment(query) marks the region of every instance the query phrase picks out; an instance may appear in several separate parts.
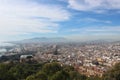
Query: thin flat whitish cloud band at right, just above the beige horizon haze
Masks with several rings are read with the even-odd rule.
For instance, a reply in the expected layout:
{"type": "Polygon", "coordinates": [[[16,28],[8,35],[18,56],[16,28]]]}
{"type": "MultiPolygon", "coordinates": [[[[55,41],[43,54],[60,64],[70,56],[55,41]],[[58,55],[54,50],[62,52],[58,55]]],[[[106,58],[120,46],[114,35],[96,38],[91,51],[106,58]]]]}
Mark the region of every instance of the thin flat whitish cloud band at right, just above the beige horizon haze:
{"type": "Polygon", "coordinates": [[[83,27],[70,29],[68,32],[80,32],[85,34],[118,34],[120,33],[120,26],[83,27]]]}

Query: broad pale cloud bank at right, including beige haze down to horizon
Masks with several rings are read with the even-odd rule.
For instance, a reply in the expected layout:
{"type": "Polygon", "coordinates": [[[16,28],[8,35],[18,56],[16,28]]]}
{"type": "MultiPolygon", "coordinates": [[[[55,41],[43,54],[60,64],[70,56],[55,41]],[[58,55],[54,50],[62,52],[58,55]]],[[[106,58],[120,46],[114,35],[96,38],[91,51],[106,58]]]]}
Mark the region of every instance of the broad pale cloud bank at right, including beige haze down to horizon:
{"type": "Polygon", "coordinates": [[[69,29],[68,32],[76,32],[75,34],[66,36],[67,38],[78,41],[90,40],[120,40],[120,26],[99,26],[99,27],[83,27],[69,29]]]}

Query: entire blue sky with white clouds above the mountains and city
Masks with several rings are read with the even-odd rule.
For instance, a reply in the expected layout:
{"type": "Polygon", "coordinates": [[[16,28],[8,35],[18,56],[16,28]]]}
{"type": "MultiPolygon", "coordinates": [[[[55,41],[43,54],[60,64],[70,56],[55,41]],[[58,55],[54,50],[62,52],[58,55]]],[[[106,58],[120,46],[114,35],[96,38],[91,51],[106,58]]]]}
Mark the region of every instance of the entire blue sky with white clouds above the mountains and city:
{"type": "Polygon", "coordinates": [[[120,0],[0,0],[0,41],[120,40],[120,0]]]}

